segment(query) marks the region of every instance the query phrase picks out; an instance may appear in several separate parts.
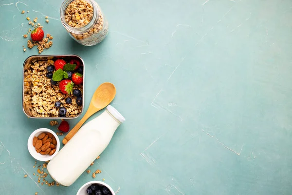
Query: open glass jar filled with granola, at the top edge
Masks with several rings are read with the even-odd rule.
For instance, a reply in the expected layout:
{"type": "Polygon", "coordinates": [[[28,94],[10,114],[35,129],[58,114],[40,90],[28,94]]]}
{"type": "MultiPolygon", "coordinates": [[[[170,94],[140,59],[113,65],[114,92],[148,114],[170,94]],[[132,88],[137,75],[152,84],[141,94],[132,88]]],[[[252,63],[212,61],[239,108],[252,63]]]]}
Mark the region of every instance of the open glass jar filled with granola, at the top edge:
{"type": "Polygon", "coordinates": [[[68,33],[82,45],[96,45],[108,35],[109,23],[94,0],[65,0],[60,15],[68,33]]]}

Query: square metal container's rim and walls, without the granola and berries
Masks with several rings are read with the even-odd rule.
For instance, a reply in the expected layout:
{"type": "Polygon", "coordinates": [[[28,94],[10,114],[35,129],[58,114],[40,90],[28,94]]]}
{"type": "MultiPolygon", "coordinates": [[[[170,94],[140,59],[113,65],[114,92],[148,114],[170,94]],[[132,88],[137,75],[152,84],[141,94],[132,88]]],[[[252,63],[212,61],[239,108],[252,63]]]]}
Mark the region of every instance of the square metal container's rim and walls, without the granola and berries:
{"type": "Polygon", "coordinates": [[[84,61],[83,59],[81,59],[79,56],[77,55],[35,55],[35,56],[30,56],[28,57],[27,59],[25,59],[24,63],[23,63],[23,73],[22,73],[22,110],[24,112],[24,114],[27,116],[27,117],[30,117],[30,118],[50,118],[50,119],[74,119],[74,118],[77,118],[79,117],[82,113],[83,113],[83,110],[84,110],[84,84],[85,84],[85,64],[84,64],[84,61]],[[25,97],[25,85],[24,85],[24,72],[26,70],[26,67],[33,61],[33,60],[48,60],[48,59],[78,59],[82,62],[83,64],[83,84],[82,84],[82,110],[81,112],[79,113],[78,116],[75,116],[75,117],[33,117],[32,116],[32,109],[29,108],[25,103],[24,103],[24,97],[25,97]]]}

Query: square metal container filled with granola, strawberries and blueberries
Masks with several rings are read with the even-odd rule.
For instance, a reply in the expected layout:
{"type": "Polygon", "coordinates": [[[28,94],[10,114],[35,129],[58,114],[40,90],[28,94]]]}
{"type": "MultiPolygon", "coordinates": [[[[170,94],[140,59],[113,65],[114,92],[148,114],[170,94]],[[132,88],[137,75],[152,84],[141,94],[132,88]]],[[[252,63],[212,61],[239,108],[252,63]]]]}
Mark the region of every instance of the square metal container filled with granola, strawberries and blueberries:
{"type": "Polygon", "coordinates": [[[32,118],[76,118],[84,105],[84,61],[76,55],[31,56],[23,64],[23,112],[32,118]]]}

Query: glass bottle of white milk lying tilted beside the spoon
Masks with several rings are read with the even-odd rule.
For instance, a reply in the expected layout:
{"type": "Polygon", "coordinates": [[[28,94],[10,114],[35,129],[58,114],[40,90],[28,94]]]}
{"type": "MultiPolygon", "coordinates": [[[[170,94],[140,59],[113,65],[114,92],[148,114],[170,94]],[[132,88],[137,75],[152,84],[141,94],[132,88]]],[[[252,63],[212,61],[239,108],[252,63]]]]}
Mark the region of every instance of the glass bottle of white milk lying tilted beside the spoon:
{"type": "Polygon", "coordinates": [[[70,186],[109,145],[125,118],[112,106],[80,128],[49,162],[48,173],[63,186],[70,186]]]}

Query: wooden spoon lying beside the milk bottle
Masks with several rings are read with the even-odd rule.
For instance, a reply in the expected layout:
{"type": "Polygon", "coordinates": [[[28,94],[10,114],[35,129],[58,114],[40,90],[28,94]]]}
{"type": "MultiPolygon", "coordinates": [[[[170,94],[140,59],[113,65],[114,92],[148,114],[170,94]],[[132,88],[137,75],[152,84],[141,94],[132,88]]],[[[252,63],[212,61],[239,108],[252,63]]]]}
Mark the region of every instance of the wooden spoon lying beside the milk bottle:
{"type": "Polygon", "coordinates": [[[75,125],[75,127],[67,134],[63,139],[63,144],[66,144],[80,129],[83,123],[91,117],[97,111],[105,108],[113,100],[116,94],[116,89],[114,85],[110,82],[105,82],[99,85],[99,87],[94,92],[91,102],[89,104],[88,110],[84,117],[75,125]]]}

